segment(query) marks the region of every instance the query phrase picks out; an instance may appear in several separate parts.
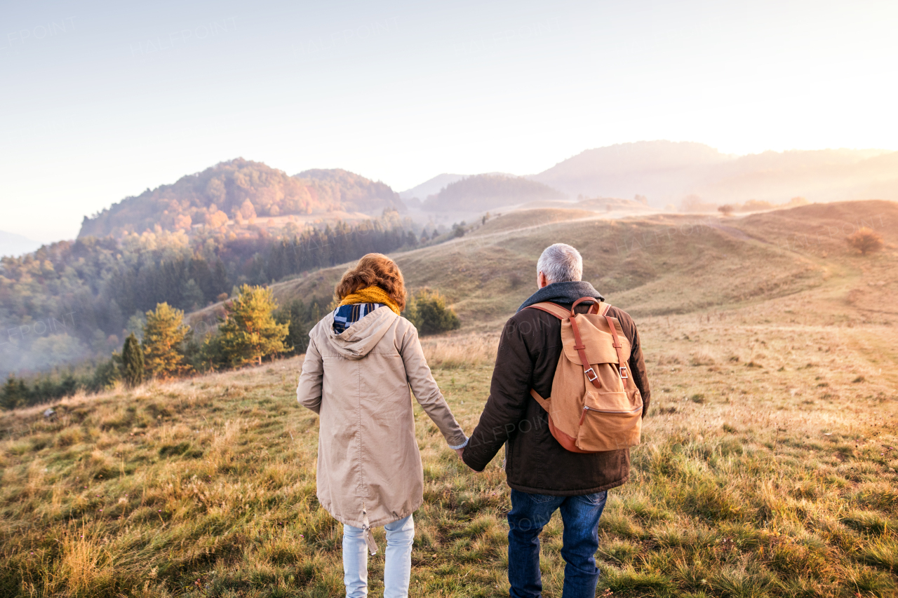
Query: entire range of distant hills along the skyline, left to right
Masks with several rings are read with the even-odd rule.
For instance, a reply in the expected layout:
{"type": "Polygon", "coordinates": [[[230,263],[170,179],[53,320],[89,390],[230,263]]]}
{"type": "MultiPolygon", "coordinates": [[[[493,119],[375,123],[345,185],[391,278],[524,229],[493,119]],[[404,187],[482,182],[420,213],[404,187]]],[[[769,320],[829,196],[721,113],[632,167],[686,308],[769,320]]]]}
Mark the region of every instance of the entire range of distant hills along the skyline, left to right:
{"type": "Polygon", "coordinates": [[[254,218],[287,215],[365,218],[384,208],[404,211],[403,198],[418,198],[421,203],[412,202],[414,206],[428,211],[477,212],[566,196],[642,196],[656,208],[680,206],[686,198],[692,203],[700,198],[709,206],[752,199],[783,204],[797,196],[812,202],[898,200],[898,152],[828,149],[733,155],[699,143],[640,141],[585,150],[526,177],[443,173],[401,193],[342,169],[288,176],[264,163],[236,158],[85,216],[78,236],[143,233],[157,226],[165,231],[221,230],[232,222],[251,224],[254,218]]]}

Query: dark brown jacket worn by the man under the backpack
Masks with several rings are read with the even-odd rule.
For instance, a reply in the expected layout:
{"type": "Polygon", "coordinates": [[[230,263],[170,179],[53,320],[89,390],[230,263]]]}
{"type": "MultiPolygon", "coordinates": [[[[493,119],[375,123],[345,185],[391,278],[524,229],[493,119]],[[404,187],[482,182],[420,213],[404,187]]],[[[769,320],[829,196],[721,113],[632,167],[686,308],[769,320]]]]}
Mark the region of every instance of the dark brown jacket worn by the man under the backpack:
{"type": "MultiPolygon", "coordinates": [[[[570,304],[559,303],[568,309],[570,304]]],[[[581,303],[577,312],[581,307],[583,312],[589,309],[588,304],[581,303]]],[[[629,372],[642,394],[645,417],[651,396],[636,324],[627,312],[613,306],[608,315],[621,322],[632,347],[629,372]]],[[[530,396],[531,388],[543,397],[551,395],[560,355],[561,321],[555,316],[522,309],[506,322],[489,399],[463,454],[471,469],[484,470],[506,444],[508,486],[516,490],[576,496],[601,492],[627,481],[629,449],[590,454],[568,452],[551,435],[546,411],[530,396]]]]}

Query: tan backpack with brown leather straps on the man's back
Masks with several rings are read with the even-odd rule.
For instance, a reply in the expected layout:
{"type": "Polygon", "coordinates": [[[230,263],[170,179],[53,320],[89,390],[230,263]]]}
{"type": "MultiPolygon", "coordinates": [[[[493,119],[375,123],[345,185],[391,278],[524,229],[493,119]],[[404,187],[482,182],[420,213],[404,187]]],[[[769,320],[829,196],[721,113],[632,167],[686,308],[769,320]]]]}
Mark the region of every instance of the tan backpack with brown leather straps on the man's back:
{"type": "Polygon", "coordinates": [[[621,322],[607,315],[608,303],[577,299],[570,310],[556,303],[534,303],[561,321],[561,356],[550,397],[531,389],[549,413],[549,429],[571,453],[600,453],[639,444],[642,395],[627,372],[630,345],[621,322]],[[595,303],[576,313],[581,302],[595,303]]]}

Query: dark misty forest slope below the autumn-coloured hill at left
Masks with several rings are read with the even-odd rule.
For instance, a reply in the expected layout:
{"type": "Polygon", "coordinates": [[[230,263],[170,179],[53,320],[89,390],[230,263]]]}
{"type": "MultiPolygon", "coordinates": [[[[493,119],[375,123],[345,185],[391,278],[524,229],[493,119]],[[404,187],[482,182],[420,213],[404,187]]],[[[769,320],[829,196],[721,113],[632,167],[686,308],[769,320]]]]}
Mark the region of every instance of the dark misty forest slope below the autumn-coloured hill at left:
{"type": "Polygon", "coordinates": [[[395,211],[360,224],[308,227],[288,237],[184,231],[88,237],[0,260],[0,371],[44,371],[108,357],[156,303],[192,311],[233,286],[269,284],[370,251],[414,246],[395,211]]]}

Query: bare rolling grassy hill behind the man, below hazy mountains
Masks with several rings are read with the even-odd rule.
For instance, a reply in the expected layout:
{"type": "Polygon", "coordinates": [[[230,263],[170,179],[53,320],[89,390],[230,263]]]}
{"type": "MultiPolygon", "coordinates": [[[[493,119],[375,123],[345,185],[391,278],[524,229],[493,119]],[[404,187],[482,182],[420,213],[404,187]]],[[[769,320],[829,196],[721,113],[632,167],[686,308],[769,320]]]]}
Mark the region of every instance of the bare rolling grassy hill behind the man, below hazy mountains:
{"type": "MultiPolygon", "coordinates": [[[[733,218],[609,220],[584,210],[518,210],[460,239],[397,253],[395,259],[409,287],[436,288],[448,297],[463,330],[495,330],[533,292],[536,259],[552,242],[577,247],[584,279],[636,316],[735,309],[832,289],[835,280],[847,285],[838,286],[840,301],[848,303],[854,292],[851,301],[865,309],[867,303],[887,304],[885,297],[898,293],[898,203],[888,201],[812,204],[733,218]],[[873,259],[855,256],[845,242],[864,224],[888,244],[873,259]],[[858,277],[858,268],[868,274],[858,277]],[[867,286],[867,276],[877,286],[867,286]]],[[[271,288],[281,301],[327,302],[346,268],[324,268],[271,288]]],[[[211,322],[212,313],[209,308],[193,317],[211,322]]],[[[866,318],[864,313],[856,315],[866,318]]]]}

